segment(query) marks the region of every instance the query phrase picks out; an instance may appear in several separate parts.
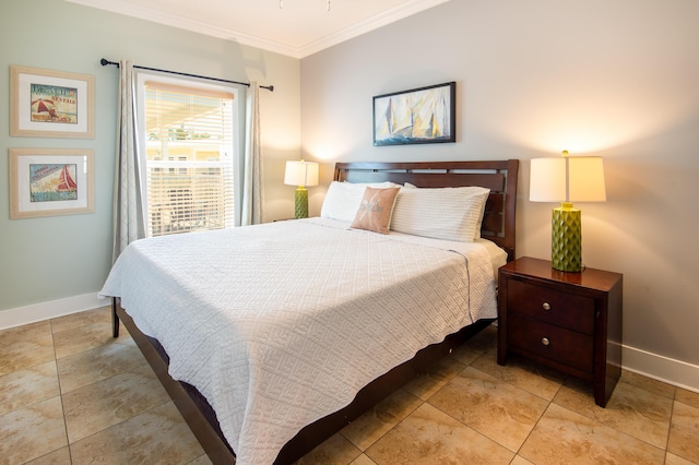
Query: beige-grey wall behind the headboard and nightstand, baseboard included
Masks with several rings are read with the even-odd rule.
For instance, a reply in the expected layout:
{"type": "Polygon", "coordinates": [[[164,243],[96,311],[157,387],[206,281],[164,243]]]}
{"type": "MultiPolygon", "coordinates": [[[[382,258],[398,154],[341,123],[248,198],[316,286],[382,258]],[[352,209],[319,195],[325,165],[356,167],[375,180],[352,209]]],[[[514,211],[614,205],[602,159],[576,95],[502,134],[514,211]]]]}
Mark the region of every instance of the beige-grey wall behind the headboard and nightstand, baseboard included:
{"type": "MultiPolygon", "coordinates": [[[[520,158],[518,257],[550,258],[529,159],[604,157],[583,261],[624,274],[625,366],[699,390],[699,2],[452,0],[301,60],[306,158],[520,158]],[[457,81],[455,144],[371,145],[371,97],[457,81]],[[670,367],[670,368],[668,368],[670,367]]],[[[311,188],[311,214],[323,189],[311,188]]]]}

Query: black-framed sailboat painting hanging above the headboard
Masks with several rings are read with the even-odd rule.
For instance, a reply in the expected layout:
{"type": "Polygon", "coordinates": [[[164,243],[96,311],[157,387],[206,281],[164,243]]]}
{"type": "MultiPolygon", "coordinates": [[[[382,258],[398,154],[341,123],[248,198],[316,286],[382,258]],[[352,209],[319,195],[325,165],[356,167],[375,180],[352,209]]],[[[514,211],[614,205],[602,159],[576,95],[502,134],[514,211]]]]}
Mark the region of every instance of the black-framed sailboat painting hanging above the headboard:
{"type": "Polygon", "coordinates": [[[374,97],[374,145],[457,142],[457,83],[374,97]]]}

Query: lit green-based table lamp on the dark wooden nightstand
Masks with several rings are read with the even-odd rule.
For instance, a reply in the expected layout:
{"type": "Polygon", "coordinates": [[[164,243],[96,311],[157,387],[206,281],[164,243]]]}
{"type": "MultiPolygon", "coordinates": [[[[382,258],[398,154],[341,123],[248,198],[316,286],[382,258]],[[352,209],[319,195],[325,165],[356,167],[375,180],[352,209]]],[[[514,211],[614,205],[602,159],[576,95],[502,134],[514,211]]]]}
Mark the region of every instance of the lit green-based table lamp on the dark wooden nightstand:
{"type": "Polygon", "coordinates": [[[529,200],[560,202],[554,208],[550,230],[550,261],[555,270],[582,270],[582,222],[572,202],[604,202],[604,168],[601,157],[533,158],[529,200]]]}

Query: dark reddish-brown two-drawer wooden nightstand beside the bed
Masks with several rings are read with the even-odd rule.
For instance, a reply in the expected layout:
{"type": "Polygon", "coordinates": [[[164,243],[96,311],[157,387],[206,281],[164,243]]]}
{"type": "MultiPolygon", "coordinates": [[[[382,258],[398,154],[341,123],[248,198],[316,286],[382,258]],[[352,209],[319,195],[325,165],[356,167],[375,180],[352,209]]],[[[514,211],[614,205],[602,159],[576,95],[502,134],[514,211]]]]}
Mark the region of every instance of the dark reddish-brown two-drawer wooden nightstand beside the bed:
{"type": "Polygon", "coordinates": [[[621,374],[624,276],[518,259],[498,272],[498,363],[516,353],[591,380],[604,407],[621,374]]]}

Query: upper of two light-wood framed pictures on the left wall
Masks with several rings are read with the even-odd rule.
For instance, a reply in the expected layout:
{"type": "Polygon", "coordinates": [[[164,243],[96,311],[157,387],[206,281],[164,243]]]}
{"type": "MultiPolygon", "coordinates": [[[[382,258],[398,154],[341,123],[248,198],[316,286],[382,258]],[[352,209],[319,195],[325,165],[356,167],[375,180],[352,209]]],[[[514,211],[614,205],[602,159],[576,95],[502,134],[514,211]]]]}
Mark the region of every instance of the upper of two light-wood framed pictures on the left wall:
{"type": "Polygon", "coordinates": [[[10,135],[95,138],[95,78],[10,65],[10,135]]]}

